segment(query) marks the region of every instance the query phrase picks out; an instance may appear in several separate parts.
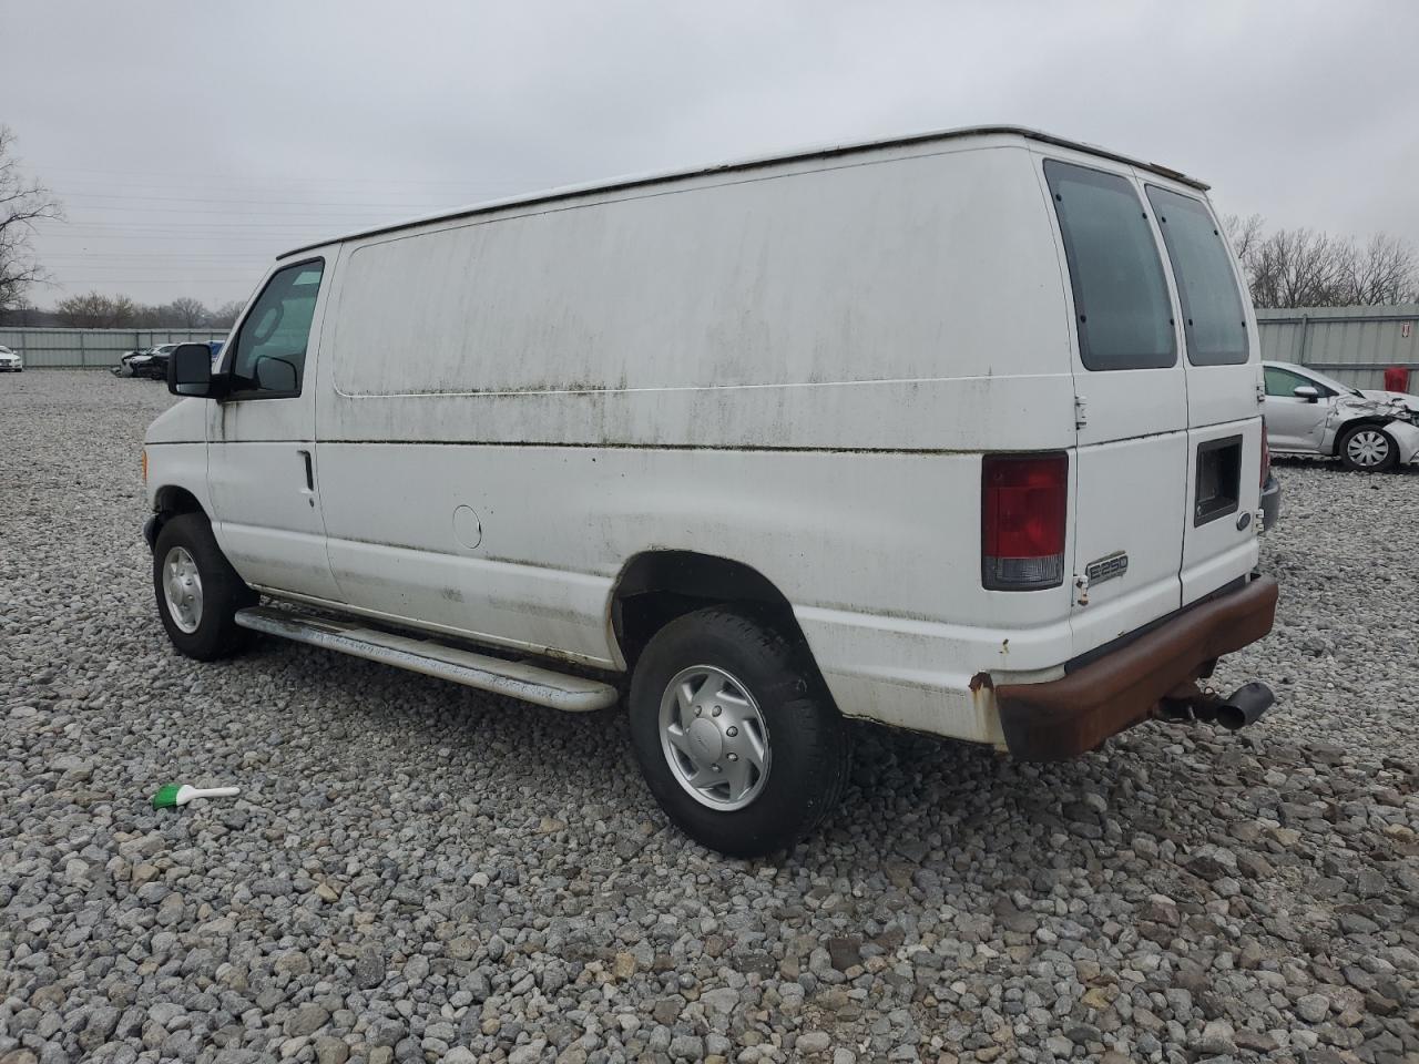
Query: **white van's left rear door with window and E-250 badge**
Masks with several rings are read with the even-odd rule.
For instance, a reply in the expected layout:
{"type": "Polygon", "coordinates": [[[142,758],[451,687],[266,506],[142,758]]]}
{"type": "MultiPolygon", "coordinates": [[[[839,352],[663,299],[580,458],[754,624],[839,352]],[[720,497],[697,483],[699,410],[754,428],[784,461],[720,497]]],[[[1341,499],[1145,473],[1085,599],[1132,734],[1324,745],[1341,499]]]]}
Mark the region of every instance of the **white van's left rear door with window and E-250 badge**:
{"type": "MultiPolygon", "coordinates": [[[[1061,153],[1063,155],[1063,153],[1061,153]]],[[[1182,604],[1188,376],[1159,241],[1131,170],[1044,157],[1073,328],[1074,653],[1182,604]]]]}

